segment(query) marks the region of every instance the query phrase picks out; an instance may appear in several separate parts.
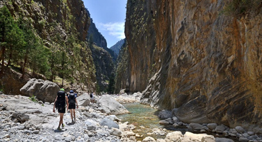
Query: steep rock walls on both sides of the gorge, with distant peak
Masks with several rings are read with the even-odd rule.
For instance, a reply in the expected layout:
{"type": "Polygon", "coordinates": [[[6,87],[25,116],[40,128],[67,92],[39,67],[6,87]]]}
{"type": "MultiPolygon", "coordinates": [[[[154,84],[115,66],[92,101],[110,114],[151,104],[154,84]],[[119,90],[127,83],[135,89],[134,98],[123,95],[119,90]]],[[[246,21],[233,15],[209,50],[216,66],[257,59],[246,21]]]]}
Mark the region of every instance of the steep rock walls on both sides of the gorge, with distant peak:
{"type": "Polygon", "coordinates": [[[33,73],[33,49],[25,63],[27,48],[2,46],[0,35],[0,91],[21,94],[29,78],[63,87],[63,78],[65,89],[106,92],[115,73],[115,94],[140,91],[141,103],[170,110],[183,123],[242,126],[262,134],[262,1],[232,1],[128,0],[126,39],[115,53],[83,1],[0,1],[18,24],[21,17],[30,21],[49,51],[47,69],[33,73]],[[52,62],[53,53],[59,62],[52,62]],[[5,66],[8,60],[13,69],[5,66]],[[21,63],[28,71],[24,79],[21,63]]]}

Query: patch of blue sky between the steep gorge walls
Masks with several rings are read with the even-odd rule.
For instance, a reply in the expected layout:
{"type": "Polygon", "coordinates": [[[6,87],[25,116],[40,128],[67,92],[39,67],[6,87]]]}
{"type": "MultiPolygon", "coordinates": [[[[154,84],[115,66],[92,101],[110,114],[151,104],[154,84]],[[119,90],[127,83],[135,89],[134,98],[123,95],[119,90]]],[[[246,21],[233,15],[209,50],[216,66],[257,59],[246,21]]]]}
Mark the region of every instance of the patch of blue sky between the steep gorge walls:
{"type": "Polygon", "coordinates": [[[110,48],[124,39],[126,0],[82,0],[110,48]]]}

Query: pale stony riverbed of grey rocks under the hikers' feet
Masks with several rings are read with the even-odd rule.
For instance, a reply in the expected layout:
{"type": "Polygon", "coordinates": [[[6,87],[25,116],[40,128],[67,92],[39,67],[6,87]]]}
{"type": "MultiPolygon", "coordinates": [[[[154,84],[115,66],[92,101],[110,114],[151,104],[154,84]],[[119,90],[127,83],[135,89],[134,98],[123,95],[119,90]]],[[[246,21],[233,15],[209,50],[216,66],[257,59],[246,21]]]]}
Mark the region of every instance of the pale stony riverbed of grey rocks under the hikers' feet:
{"type": "MultiPolygon", "coordinates": [[[[35,103],[26,96],[7,96],[0,94],[0,141],[231,141],[230,139],[215,139],[208,134],[193,134],[186,132],[170,132],[166,134],[165,130],[152,130],[152,133],[164,134],[164,139],[154,139],[148,134],[140,136],[135,133],[144,129],[142,126],[129,125],[128,122],[121,122],[115,114],[126,112],[120,103],[137,102],[138,94],[133,96],[101,96],[97,97],[97,103],[90,104],[88,95],[79,96],[81,106],[76,109],[76,122],[72,123],[70,114],[65,113],[65,127],[57,130],[59,116],[58,113],[52,112],[53,104],[35,103]],[[131,97],[131,98],[130,98],[131,97]],[[114,99],[115,98],[115,99],[114,99]]],[[[165,113],[164,113],[165,114],[165,113]]],[[[166,116],[166,115],[163,115],[166,116]]],[[[174,117],[172,118],[174,121],[174,117]]],[[[164,119],[159,123],[170,121],[170,118],[164,119]]],[[[175,121],[174,121],[175,122],[175,121]]],[[[177,122],[179,125],[181,122],[177,122]]],[[[184,124],[186,125],[186,124],[184,124]]],[[[174,126],[176,127],[176,126],[174,126]]],[[[203,125],[189,124],[188,128],[193,130],[203,130],[203,125]]],[[[220,126],[207,125],[206,130],[217,132],[220,126]],[[213,128],[210,128],[210,127],[213,128]]],[[[236,131],[238,131],[236,129],[236,131]]],[[[225,130],[222,132],[224,133],[225,130]]],[[[218,132],[217,132],[218,133],[218,132]]],[[[231,132],[232,134],[234,132],[231,132]]],[[[229,134],[231,134],[229,133],[229,134]]],[[[239,132],[238,132],[239,133],[239,132]]],[[[236,133],[236,134],[238,134],[236,133]]],[[[261,137],[255,134],[239,133],[241,141],[261,141],[261,137]]]]}

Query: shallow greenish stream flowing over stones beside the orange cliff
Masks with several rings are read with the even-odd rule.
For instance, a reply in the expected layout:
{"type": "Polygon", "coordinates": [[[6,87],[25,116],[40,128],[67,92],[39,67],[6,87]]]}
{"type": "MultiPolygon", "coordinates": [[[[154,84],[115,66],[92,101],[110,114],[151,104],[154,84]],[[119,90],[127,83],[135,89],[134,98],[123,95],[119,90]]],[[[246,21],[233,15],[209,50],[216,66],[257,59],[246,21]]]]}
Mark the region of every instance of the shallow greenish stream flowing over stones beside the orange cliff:
{"type": "MultiPolygon", "coordinates": [[[[129,122],[129,124],[135,125],[137,128],[133,130],[133,132],[143,135],[142,138],[138,138],[138,141],[142,141],[142,139],[145,139],[145,136],[148,136],[147,133],[152,133],[152,130],[154,128],[165,128],[166,132],[174,132],[174,131],[180,131],[182,134],[185,134],[188,129],[187,127],[173,127],[172,125],[160,125],[158,118],[158,111],[152,107],[149,107],[149,105],[142,105],[140,103],[129,103],[129,104],[123,104],[126,109],[129,110],[129,114],[122,114],[118,115],[117,117],[122,119],[122,122],[129,122]],[[145,129],[140,129],[140,126],[144,126],[145,129]]],[[[166,134],[167,134],[166,133],[166,134]]],[[[214,135],[213,133],[210,133],[215,137],[218,137],[214,135]]],[[[165,139],[165,135],[150,135],[154,139],[165,139]]],[[[232,138],[230,138],[232,139],[232,138]]],[[[238,141],[238,139],[232,139],[234,141],[238,141]]]]}

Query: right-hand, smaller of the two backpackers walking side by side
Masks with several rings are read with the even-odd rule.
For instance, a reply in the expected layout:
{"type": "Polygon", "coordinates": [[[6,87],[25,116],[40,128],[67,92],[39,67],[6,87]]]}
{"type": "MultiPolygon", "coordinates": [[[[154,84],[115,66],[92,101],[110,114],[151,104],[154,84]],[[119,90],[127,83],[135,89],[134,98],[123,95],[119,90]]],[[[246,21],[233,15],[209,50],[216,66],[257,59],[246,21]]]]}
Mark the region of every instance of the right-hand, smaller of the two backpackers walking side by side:
{"type": "Polygon", "coordinates": [[[74,96],[74,91],[70,90],[69,91],[69,96],[68,96],[68,103],[69,103],[69,111],[71,114],[71,119],[72,119],[72,123],[74,123],[74,121],[76,121],[76,108],[79,108],[79,105],[76,101],[76,96],[74,96]],[[73,120],[73,113],[74,113],[74,120],[73,120]]]}

